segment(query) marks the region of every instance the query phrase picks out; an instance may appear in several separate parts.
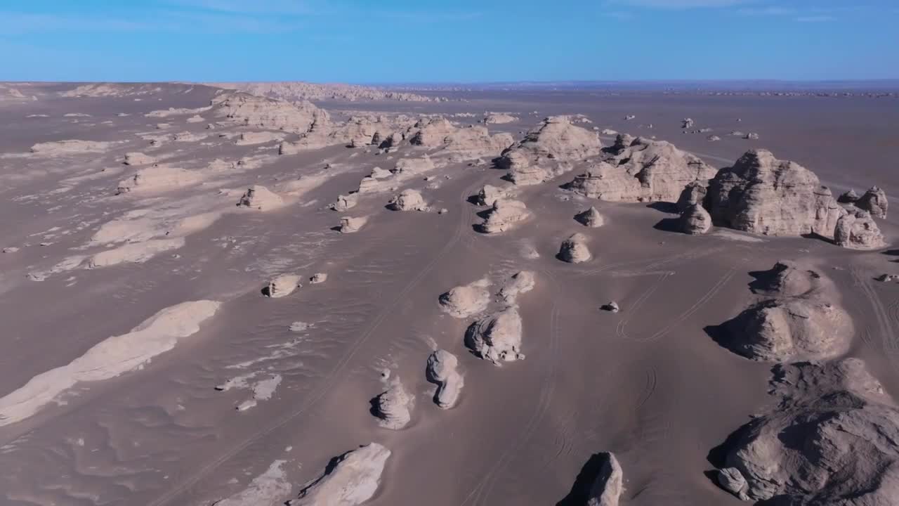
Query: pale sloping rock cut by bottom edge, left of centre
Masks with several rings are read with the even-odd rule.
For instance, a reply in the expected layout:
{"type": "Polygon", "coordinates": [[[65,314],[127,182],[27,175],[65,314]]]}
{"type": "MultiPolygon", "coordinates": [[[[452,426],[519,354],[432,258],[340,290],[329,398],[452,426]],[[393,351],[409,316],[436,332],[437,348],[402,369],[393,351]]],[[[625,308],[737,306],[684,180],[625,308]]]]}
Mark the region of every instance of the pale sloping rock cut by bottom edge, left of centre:
{"type": "Polygon", "coordinates": [[[374,497],[390,450],[370,443],[332,460],[316,480],[307,483],[290,506],[357,506],[374,497]]]}

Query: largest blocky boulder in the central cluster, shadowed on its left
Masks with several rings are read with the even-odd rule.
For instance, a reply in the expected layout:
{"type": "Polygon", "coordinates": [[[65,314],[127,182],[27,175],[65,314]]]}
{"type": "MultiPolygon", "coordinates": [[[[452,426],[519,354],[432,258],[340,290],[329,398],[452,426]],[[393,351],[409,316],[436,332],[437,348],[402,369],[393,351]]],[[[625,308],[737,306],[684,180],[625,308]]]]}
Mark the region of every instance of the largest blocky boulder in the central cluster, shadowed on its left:
{"type": "Polygon", "coordinates": [[[465,334],[465,345],[477,357],[501,362],[521,360],[521,315],[512,306],[472,323],[465,334]]]}

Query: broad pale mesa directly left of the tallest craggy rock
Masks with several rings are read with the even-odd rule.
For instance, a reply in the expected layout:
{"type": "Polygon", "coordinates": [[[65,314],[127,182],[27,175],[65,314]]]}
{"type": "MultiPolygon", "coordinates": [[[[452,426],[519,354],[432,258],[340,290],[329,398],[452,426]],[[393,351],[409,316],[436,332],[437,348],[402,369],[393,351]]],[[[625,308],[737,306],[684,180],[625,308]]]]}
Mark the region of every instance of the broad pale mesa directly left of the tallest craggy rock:
{"type": "Polygon", "coordinates": [[[716,169],[670,142],[619,136],[612,158],[567,185],[577,194],[609,202],[677,202],[684,186],[708,181],[716,169]]]}

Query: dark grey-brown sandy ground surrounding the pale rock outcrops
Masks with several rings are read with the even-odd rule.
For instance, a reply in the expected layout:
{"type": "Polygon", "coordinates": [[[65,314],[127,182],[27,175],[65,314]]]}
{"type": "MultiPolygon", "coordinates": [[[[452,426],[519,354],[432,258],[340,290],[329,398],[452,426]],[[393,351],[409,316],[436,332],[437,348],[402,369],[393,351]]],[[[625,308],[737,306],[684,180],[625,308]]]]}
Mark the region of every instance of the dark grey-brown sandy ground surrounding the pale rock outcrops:
{"type": "MultiPolygon", "coordinates": [[[[393,452],[372,505],[567,504],[583,465],[601,451],[619,457],[626,504],[738,504],[705,474],[712,469],[708,452],[770,404],[770,365],[727,352],[704,328],[741,311],[752,300],[748,273],[781,258],[802,258],[832,277],[856,325],[849,355],[864,358],[887,391],[899,394],[899,285],[872,281],[899,274],[895,250],[858,252],[739,232],[686,236],[657,228],[672,215],[645,204],[600,203],[607,224],[588,229],[572,217],[595,202],[558,187],[571,174],[522,188],[518,198],[536,217],[487,236],[473,229],[483,208],[467,197],[500,183],[503,171],[464,164],[441,168],[439,188],[426,188],[421,178],[404,186],[422,190],[447,213],[389,211],[389,194],[363,195],[357,207],[338,213],[325,204],[355,189],[372,167],[392,167],[387,155],[335,146],[276,157],[277,143],[236,146],[215,136],[147,149],[138,134],[159,133],[157,122],[172,123],[170,132],[209,131],[205,122],[185,122],[190,115],[144,113],[202,107],[212,93],[197,86],[139,102],[39,95],[33,103],[0,105],[0,247],[19,248],[0,254],[0,395],[166,307],[222,303],[199,331],[138,370],[76,384],[33,416],[0,426],[3,504],[209,505],[284,461],[290,493],[252,502],[280,504],[332,457],[372,441],[393,452]],[[26,119],[29,114],[48,117],[26,119]],[[66,139],[116,143],[101,153],[20,155],[36,142],[66,139]],[[117,183],[133,173],[121,165],[129,151],[191,167],[214,158],[271,160],[215,185],[117,198],[117,183]],[[326,163],[333,168],[313,192],[269,212],[227,212],[186,236],[182,248],[144,263],[52,272],[66,258],[98,250],[85,246],[93,234],[135,208],[233,207],[239,192],[218,189],[274,188],[319,174],[326,163]],[[353,234],[331,230],[343,214],[368,215],[369,222],[353,234]],[[590,238],[594,258],[565,264],[555,258],[558,245],[575,231],[590,238]],[[525,246],[539,258],[522,255],[525,246]],[[437,299],[482,276],[501,285],[522,269],[537,276],[534,291],[520,297],[527,357],[493,366],[464,348],[470,320],[441,312],[437,299]],[[27,276],[35,272],[45,279],[27,276]],[[304,282],[280,299],[260,293],[277,274],[305,280],[316,272],[328,274],[324,284],[304,282]],[[599,310],[611,300],[621,312],[599,310]],[[297,321],[308,328],[290,330],[297,321]],[[434,348],[455,354],[465,375],[460,401],[449,411],[431,402],[435,387],[424,375],[434,348]],[[385,368],[415,396],[403,430],[380,428],[369,414],[385,368]],[[242,375],[250,375],[247,384],[274,376],[280,383],[271,398],[262,395],[252,409],[237,411],[254,397],[252,388],[215,387],[242,375]]],[[[750,147],[766,147],[812,168],[835,190],[877,184],[899,194],[899,175],[890,169],[899,112],[874,99],[469,98],[325,107],[337,114],[509,112],[521,120],[491,128],[516,136],[543,116],[583,113],[590,126],[672,140],[715,167],[750,147]],[[625,114],[636,119],[626,122],[625,114]],[[705,134],[681,134],[680,120],[688,116],[698,128],[755,131],[761,140],[722,135],[712,143],[705,134]],[[653,129],[640,126],[650,122],[653,129]]],[[[881,221],[887,241],[899,229],[895,215],[881,221]]],[[[273,488],[283,494],[283,487],[273,488]]]]}

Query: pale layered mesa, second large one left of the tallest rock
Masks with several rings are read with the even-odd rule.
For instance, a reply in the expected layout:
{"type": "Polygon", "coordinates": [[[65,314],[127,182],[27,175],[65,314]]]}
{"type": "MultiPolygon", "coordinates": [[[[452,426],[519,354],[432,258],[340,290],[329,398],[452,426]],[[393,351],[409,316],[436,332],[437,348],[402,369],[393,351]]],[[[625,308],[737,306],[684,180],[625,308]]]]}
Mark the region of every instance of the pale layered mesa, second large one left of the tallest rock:
{"type": "Polygon", "coordinates": [[[509,170],[512,180],[528,181],[529,177],[520,175],[535,170],[528,170],[530,167],[539,167],[547,176],[558,175],[570,170],[574,162],[598,156],[601,149],[596,132],[574,125],[570,116],[551,116],[505,149],[497,165],[509,170]]]}

